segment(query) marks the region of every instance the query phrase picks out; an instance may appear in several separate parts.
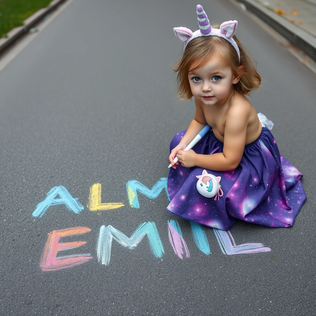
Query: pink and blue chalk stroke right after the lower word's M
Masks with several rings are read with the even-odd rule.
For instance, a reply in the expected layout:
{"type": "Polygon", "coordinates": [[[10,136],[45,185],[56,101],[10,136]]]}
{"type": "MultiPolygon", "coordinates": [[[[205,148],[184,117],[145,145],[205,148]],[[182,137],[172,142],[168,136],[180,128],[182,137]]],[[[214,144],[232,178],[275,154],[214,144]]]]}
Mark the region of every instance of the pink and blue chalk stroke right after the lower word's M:
{"type": "Polygon", "coordinates": [[[186,242],[183,239],[181,228],[177,221],[174,221],[174,220],[168,221],[168,234],[169,234],[169,241],[173,248],[174,253],[180,259],[183,258],[183,254],[185,254],[186,258],[190,258],[188,246],[186,245],[186,242]]]}

